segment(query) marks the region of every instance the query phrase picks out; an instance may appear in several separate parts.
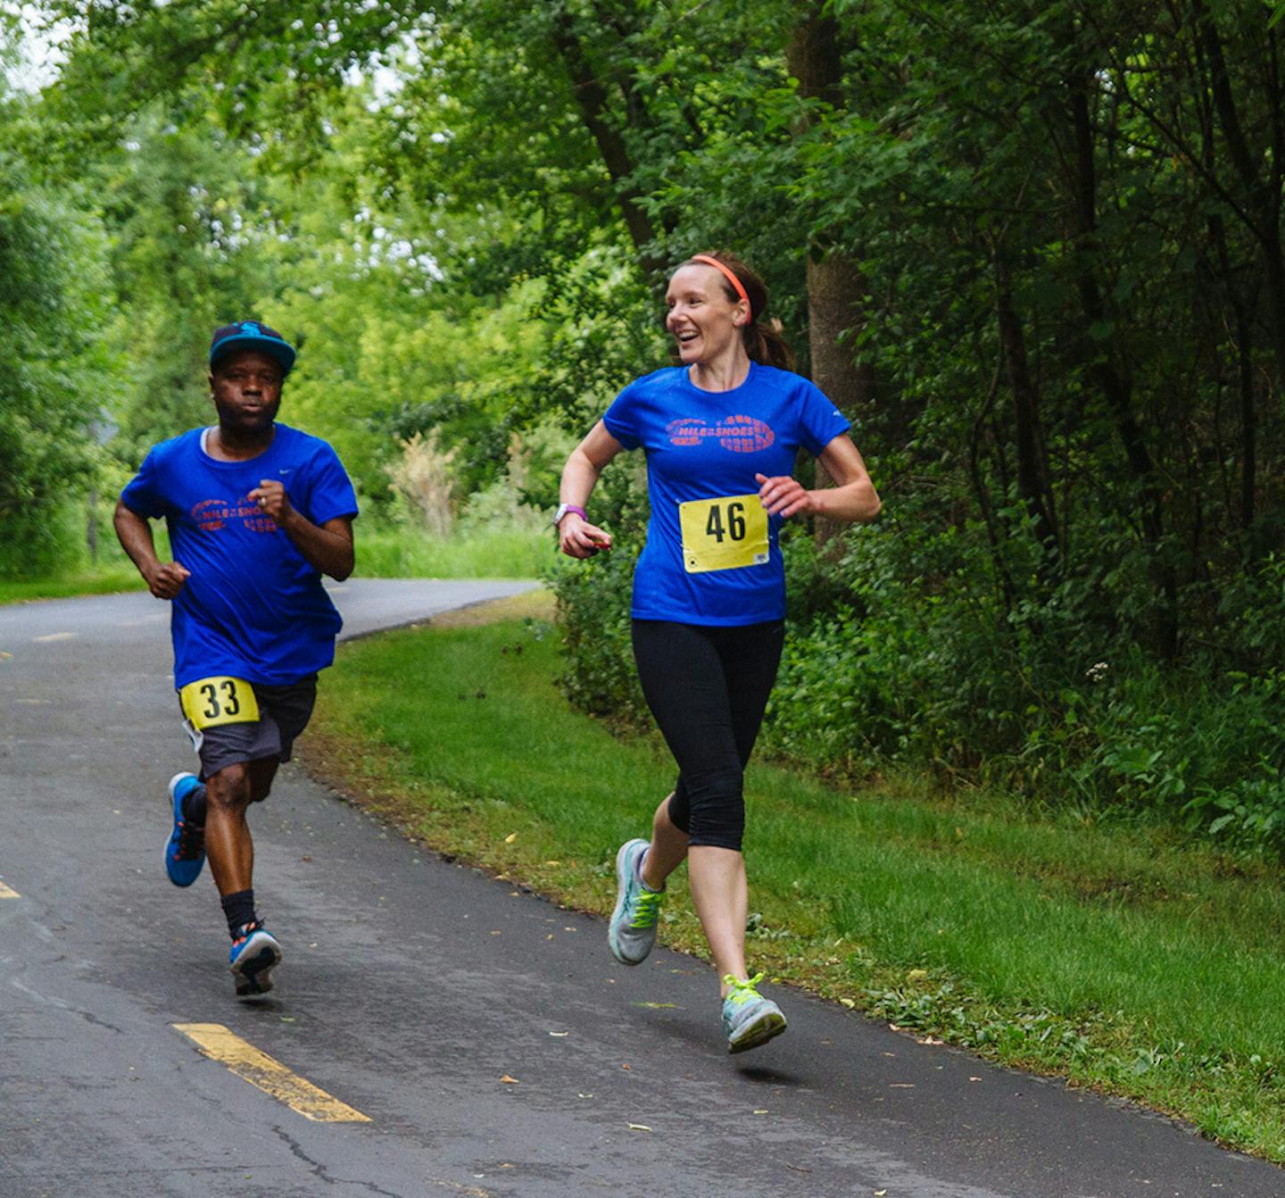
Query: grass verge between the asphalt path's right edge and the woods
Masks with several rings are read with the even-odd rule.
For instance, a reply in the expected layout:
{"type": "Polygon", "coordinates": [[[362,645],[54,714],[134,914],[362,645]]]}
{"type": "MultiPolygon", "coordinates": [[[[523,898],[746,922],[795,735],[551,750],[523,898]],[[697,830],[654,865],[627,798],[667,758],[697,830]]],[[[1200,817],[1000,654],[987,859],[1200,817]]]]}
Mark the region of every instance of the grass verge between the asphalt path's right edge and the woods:
{"type": "MultiPolygon", "coordinates": [[[[616,848],[646,833],[672,764],[568,708],[547,622],[481,618],[346,645],[305,752],[434,847],[608,911],[616,848]]],[[[754,765],[747,794],[753,967],[1285,1161],[1285,890],[1267,863],[907,780],[851,793],[754,765]]],[[[663,938],[703,954],[671,891],[663,938]]]]}

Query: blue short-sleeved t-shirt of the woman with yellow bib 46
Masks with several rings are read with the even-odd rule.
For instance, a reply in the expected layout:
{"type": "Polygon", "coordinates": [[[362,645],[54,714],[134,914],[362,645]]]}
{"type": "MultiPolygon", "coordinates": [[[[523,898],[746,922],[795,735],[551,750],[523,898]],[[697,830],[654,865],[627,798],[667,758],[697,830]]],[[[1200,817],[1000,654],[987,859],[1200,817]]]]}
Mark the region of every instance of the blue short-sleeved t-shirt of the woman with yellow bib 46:
{"type": "Polygon", "coordinates": [[[783,618],[779,515],[766,522],[763,550],[748,554],[744,563],[726,566],[726,558],[702,555],[732,546],[747,518],[752,523],[756,473],[793,474],[799,446],[820,454],[848,431],[834,404],[808,379],[775,366],[750,362],[745,380],[731,391],[702,391],[687,368],[671,366],[626,387],[603,423],[626,449],[641,446],[646,454],[651,519],[634,572],[630,614],[698,625],[783,618]],[[750,495],[752,503],[693,503],[680,515],[680,504],[750,495]]]}

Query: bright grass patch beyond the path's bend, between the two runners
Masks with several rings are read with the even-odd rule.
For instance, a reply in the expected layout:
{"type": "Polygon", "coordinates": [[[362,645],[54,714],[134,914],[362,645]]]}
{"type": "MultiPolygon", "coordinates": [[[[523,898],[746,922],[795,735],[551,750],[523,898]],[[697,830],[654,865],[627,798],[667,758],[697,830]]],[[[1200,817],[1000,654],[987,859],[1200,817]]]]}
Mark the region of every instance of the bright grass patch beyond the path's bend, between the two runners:
{"type": "Polygon", "coordinates": [[[533,578],[554,551],[549,530],[509,526],[432,537],[410,527],[356,526],[366,578],[533,578]]]}

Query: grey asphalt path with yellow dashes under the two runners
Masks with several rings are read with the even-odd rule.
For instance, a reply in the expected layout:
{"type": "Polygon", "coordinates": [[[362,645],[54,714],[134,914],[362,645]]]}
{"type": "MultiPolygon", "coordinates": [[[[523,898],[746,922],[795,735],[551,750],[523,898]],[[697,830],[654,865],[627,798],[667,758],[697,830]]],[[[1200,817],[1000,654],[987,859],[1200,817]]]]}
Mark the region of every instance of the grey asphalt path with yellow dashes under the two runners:
{"type": "MultiPolygon", "coordinates": [[[[335,602],[352,635],[523,585],[335,602]]],[[[164,784],[194,761],[167,620],[141,594],[0,608],[0,1198],[1285,1192],[1165,1118],[785,987],[765,990],[786,1035],[729,1057],[707,967],[621,968],[601,919],[438,859],[293,764],[252,814],[285,961],[238,1003],[208,870],[180,891],[162,868],[164,784]],[[279,1073],[248,1084],[191,1024],[279,1073]],[[306,1117],[278,1076],[364,1121],[306,1117]]]]}

